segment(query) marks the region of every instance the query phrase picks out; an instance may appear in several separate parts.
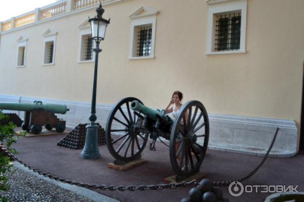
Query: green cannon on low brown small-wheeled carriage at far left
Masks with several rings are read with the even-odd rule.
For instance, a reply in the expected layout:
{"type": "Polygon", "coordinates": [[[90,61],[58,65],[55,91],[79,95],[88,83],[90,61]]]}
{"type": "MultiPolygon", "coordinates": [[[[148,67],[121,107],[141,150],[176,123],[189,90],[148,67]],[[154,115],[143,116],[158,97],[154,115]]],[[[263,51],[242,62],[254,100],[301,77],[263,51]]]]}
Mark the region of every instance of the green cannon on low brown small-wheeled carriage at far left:
{"type": "Polygon", "coordinates": [[[44,125],[48,130],[55,128],[57,132],[63,132],[65,121],[58,119],[55,114],[65,114],[69,111],[65,105],[42,104],[41,101],[34,101],[33,104],[0,103],[0,109],[24,111],[22,129],[33,134],[39,134],[44,125]]]}

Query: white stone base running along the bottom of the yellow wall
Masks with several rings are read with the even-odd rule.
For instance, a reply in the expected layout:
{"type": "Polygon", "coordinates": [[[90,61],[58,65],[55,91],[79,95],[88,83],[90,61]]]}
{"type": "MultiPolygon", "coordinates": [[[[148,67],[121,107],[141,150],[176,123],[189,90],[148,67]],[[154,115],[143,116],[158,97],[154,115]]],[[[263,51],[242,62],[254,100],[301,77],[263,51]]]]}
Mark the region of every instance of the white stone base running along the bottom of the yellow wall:
{"type": "MultiPolygon", "coordinates": [[[[66,105],[70,111],[64,115],[56,114],[66,120],[67,126],[75,127],[80,123],[88,123],[91,104],[68,100],[56,100],[39,97],[24,97],[0,94],[0,102],[32,103],[41,100],[43,103],[66,105]]],[[[97,122],[105,128],[108,115],[113,105],[97,104],[97,122]]],[[[127,109],[123,109],[127,112],[127,109]]],[[[17,111],[4,111],[18,113],[17,111]]],[[[19,112],[19,116],[23,112],[19,112]]],[[[233,153],[263,156],[279,127],[278,136],[270,152],[270,157],[291,157],[298,151],[297,127],[292,120],[243,117],[234,115],[208,114],[210,135],[208,148],[233,153]]],[[[21,116],[21,118],[23,118],[21,116]]]]}

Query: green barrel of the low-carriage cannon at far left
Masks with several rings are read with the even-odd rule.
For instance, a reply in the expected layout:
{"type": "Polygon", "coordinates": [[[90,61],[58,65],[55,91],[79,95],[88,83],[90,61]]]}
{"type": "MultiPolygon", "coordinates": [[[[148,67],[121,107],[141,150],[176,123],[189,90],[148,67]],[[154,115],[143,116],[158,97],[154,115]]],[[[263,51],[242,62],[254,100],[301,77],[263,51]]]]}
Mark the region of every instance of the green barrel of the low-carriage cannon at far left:
{"type": "Polygon", "coordinates": [[[0,109],[25,112],[30,112],[33,110],[45,110],[54,114],[65,114],[67,111],[69,111],[66,105],[42,104],[41,101],[35,101],[34,104],[0,103],[0,109]]]}

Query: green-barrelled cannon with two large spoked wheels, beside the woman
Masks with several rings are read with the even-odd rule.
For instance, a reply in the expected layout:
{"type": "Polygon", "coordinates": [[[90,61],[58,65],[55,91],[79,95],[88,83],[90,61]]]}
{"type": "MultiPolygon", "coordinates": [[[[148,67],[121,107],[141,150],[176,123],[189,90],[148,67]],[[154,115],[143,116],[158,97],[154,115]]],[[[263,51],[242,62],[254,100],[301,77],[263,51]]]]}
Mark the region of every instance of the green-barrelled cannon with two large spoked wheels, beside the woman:
{"type": "Polygon", "coordinates": [[[209,120],[205,107],[197,100],[182,105],[175,120],[164,110],[153,110],[135,97],[121,99],[111,110],[105,129],[106,145],[116,163],[141,157],[148,142],[155,150],[158,138],[170,141],[170,162],[181,178],[199,172],[209,140],[209,120]]]}

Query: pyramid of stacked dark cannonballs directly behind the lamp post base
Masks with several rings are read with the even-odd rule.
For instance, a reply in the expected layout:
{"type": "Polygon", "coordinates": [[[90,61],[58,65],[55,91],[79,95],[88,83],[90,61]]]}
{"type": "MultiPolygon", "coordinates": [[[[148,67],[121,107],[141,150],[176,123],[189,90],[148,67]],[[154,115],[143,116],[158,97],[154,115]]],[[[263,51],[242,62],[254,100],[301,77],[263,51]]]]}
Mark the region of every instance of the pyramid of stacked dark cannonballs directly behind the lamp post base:
{"type": "MultiPolygon", "coordinates": [[[[64,146],[72,149],[80,149],[83,148],[86,141],[87,129],[86,126],[88,124],[78,124],[71,132],[68,133],[62,140],[60,140],[57,145],[64,146]]],[[[105,144],[105,132],[104,129],[96,123],[98,126],[98,145],[105,144]]]]}

